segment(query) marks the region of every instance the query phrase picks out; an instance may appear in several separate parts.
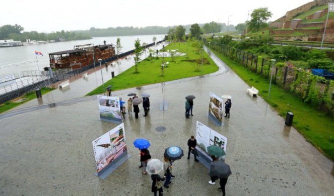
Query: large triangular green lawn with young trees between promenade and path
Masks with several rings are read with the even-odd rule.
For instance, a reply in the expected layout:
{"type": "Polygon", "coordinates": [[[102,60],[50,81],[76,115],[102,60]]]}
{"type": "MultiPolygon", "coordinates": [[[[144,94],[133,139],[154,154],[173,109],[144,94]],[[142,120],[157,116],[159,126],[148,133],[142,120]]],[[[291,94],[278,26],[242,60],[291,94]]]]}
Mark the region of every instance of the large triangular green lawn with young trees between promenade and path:
{"type": "MultiPolygon", "coordinates": [[[[120,90],[131,87],[138,87],[147,84],[171,81],[186,77],[202,75],[202,53],[197,51],[193,45],[195,42],[177,42],[165,47],[165,51],[178,49],[179,52],[186,53],[186,56],[175,57],[172,61],[171,57],[165,57],[164,62],[169,62],[168,67],[164,69],[164,75],[161,76],[162,57],[154,58],[153,61],[149,57],[138,63],[138,72],[135,73],[135,66],[127,69],[121,74],[115,76],[105,82],[105,86],[112,85],[112,90],[120,90]]],[[[203,74],[212,73],[218,70],[218,66],[203,52],[203,74]]],[[[89,92],[87,95],[104,93],[102,86],[89,92]]]]}

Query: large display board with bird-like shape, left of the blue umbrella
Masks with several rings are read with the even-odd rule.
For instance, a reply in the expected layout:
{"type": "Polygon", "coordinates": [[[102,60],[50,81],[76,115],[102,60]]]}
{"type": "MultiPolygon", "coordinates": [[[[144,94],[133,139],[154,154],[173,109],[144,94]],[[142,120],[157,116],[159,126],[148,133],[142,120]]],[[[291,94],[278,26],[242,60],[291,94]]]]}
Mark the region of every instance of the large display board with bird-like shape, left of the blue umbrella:
{"type": "Polygon", "coordinates": [[[92,144],[96,175],[103,179],[129,158],[123,123],[95,139],[92,144]]]}

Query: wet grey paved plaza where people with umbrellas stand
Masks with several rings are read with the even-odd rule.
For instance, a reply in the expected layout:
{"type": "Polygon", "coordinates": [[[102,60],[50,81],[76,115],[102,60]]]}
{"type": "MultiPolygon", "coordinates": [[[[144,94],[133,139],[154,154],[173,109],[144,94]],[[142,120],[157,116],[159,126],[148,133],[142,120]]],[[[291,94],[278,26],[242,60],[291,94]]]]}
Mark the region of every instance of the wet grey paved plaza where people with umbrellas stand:
{"type": "MultiPolygon", "coordinates": [[[[250,97],[248,85],[233,71],[225,67],[213,75],[112,92],[124,101],[129,92],[148,92],[151,107],[147,117],[143,117],[142,106],[139,119],[134,113],[126,114],[125,137],[131,157],[104,180],[94,175],[92,141],[116,124],[99,120],[95,96],[80,98],[95,88],[94,83],[82,88],[87,81],[80,79],[66,92],[56,89],[43,95],[44,104],[56,103],[56,107],[1,115],[0,195],[153,195],[151,178],[138,168],[139,151],[132,142],[147,138],[152,158],[160,160],[171,145],[180,146],[186,154],[196,121],[228,139],[226,163],[232,175],[226,195],[332,195],[333,162],[293,127],[286,127],[285,120],[261,97],[250,97]],[[221,127],[208,119],[210,91],[232,95],[231,117],[221,127]],[[184,97],[189,94],[196,96],[194,116],[186,119],[184,97]],[[73,102],[57,106],[71,99],[73,102]],[[160,110],[163,101],[168,104],[165,111],[160,110]],[[159,127],[165,131],[160,132],[159,127]]],[[[18,111],[37,106],[34,100],[18,111]]],[[[219,183],[210,185],[208,169],[193,157],[187,160],[184,156],[173,165],[176,177],[169,189],[164,188],[164,195],[222,195],[219,183]]]]}

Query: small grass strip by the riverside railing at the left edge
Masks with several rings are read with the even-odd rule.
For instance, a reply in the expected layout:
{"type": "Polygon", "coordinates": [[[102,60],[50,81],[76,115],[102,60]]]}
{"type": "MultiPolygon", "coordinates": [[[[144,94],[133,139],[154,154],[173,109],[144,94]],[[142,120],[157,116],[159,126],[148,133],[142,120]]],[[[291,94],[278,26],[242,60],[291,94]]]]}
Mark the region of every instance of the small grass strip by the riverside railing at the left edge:
{"type": "MultiPolygon", "coordinates": [[[[54,90],[55,88],[41,88],[41,92],[42,94],[45,94],[51,90],[54,90]]],[[[30,100],[33,100],[36,98],[36,92],[35,91],[31,91],[28,92],[26,94],[24,94],[23,96],[19,97],[18,99],[12,100],[12,101],[8,101],[2,105],[0,105],[0,113],[4,113],[8,110],[11,110],[17,106],[20,106],[26,102],[29,102],[30,100]],[[23,100],[21,102],[16,102],[17,100],[23,100]]]]}

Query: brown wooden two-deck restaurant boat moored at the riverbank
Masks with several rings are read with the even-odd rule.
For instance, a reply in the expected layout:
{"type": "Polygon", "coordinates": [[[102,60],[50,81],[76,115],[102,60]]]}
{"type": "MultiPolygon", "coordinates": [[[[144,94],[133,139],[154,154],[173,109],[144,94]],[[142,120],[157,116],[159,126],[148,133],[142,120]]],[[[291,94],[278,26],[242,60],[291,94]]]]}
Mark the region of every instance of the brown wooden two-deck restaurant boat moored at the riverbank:
{"type": "Polygon", "coordinates": [[[74,46],[72,50],[49,53],[50,66],[53,69],[72,68],[79,69],[102,59],[104,62],[111,60],[115,56],[115,47],[112,44],[104,45],[84,44],[74,46]]]}

